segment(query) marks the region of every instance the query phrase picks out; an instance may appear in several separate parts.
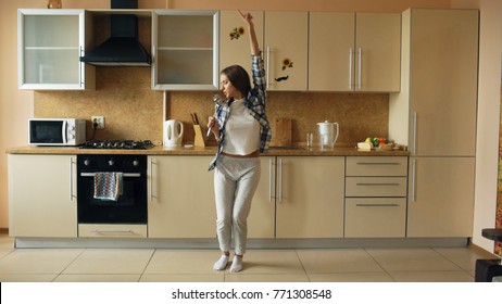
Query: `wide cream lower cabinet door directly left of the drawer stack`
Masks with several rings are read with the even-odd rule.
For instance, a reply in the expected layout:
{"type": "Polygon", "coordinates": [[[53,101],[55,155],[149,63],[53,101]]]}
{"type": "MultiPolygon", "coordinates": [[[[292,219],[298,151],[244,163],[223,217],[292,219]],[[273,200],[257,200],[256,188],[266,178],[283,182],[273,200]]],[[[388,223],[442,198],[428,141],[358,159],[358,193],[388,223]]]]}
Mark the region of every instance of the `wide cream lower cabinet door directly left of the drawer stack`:
{"type": "Polygon", "coordinates": [[[342,238],[344,157],[277,157],[276,238],[342,238]]]}

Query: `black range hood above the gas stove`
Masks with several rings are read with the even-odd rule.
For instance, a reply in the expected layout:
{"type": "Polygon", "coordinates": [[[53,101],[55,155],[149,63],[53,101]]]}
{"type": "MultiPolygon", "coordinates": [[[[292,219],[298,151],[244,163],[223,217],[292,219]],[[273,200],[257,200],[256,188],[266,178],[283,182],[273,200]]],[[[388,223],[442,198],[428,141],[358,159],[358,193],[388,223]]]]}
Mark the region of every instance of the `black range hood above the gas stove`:
{"type": "MultiPolygon", "coordinates": [[[[112,9],[130,9],[115,5],[112,9]]],[[[137,2],[136,2],[137,3],[137,2]]],[[[137,4],[134,9],[137,9],[137,4]]],[[[138,17],[129,14],[110,15],[111,37],[80,56],[80,62],[97,66],[150,66],[152,59],[138,40],[138,17]]]]}

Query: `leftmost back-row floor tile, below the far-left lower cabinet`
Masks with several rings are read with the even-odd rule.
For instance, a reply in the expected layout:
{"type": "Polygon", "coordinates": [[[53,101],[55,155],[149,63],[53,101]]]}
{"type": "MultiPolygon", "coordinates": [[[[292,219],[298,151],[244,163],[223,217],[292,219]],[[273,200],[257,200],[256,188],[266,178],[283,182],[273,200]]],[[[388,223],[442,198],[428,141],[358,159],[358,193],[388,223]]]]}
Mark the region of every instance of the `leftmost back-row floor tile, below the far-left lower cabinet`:
{"type": "Polygon", "coordinates": [[[83,251],[81,249],[17,249],[0,258],[0,274],[60,274],[83,251]]]}

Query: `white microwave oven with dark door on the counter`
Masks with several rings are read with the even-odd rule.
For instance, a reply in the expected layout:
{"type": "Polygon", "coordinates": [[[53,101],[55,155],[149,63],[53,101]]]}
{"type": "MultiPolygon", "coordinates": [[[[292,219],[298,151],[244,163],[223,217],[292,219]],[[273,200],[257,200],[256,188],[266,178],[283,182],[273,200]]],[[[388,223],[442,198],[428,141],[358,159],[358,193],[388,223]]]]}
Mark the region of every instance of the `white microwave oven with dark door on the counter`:
{"type": "Polygon", "coordinates": [[[86,142],[86,119],[30,118],[29,144],[79,145],[86,142]]]}

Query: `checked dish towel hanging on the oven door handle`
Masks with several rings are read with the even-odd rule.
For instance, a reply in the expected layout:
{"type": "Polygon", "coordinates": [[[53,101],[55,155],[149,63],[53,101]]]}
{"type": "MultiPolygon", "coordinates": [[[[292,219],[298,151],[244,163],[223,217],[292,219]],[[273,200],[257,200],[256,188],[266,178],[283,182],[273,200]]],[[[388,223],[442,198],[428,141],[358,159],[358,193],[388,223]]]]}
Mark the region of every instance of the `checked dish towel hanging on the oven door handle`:
{"type": "Polygon", "coordinates": [[[116,201],[123,192],[122,172],[95,173],[95,199],[116,201]]]}

